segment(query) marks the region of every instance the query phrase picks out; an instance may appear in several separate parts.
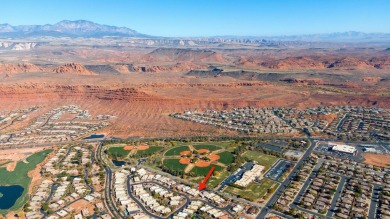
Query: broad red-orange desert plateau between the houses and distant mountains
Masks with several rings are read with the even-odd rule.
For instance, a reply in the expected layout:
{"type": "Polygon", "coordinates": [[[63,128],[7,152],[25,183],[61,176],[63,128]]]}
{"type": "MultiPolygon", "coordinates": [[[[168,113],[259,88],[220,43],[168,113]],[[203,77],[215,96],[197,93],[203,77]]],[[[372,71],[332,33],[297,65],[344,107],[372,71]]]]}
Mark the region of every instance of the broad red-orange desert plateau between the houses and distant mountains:
{"type": "Polygon", "coordinates": [[[390,103],[386,44],[32,37],[1,45],[2,110],[81,105],[120,118],[104,132],[121,137],[228,134],[168,116],[185,110],[390,103]]]}

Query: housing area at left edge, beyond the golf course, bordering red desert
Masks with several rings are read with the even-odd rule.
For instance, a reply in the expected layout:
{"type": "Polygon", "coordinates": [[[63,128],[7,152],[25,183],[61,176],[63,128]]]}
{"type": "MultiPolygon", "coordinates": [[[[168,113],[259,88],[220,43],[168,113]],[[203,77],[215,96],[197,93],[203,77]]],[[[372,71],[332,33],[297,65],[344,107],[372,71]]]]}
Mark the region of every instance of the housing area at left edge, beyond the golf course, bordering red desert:
{"type": "MultiPolygon", "coordinates": [[[[30,111],[37,110],[39,108],[30,108],[23,116],[18,118],[22,119],[30,111]]],[[[4,119],[7,120],[11,116],[17,115],[17,113],[14,113],[4,119]]],[[[1,118],[0,123],[3,121],[1,118]]],[[[12,147],[13,145],[23,144],[69,142],[87,137],[88,134],[108,126],[109,123],[107,120],[110,118],[112,117],[107,115],[92,119],[88,110],[82,110],[79,106],[62,106],[39,116],[33,124],[30,124],[21,131],[0,135],[0,145],[12,147]]]]}

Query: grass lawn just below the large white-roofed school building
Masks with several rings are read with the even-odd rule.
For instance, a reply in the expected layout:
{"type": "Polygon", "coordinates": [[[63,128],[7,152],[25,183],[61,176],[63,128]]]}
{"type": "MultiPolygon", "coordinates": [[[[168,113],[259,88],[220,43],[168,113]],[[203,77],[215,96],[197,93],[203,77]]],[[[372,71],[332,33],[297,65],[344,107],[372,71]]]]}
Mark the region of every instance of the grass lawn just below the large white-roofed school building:
{"type": "Polygon", "coordinates": [[[267,190],[272,186],[275,186],[276,189],[277,183],[271,181],[270,179],[264,178],[261,183],[251,183],[245,189],[238,189],[232,186],[228,186],[224,191],[229,194],[254,201],[256,199],[263,198],[267,193],[267,190]]]}

